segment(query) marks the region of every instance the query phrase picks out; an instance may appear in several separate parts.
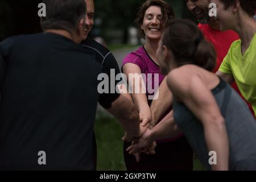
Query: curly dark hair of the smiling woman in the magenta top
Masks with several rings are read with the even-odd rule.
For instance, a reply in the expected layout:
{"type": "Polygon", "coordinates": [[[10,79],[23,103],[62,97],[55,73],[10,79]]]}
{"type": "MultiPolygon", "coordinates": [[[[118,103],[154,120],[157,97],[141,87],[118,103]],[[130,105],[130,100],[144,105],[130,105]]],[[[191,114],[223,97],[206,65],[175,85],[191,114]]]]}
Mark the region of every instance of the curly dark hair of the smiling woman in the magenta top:
{"type": "Polygon", "coordinates": [[[161,23],[163,23],[163,24],[166,24],[168,19],[175,18],[174,10],[167,2],[162,1],[162,0],[147,0],[146,2],[144,2],[141,5],[141,7],[139,7],[139,10],[137,13],[137,19],[135,19],[135,23],[138,26],[138,35],[140,38],[145,38],[144,31],[141,29],[141,25],[143,23],[143,19],[144,19],[146,10],[150,6],[160,7],[162,14],[163,14],[161,23]]]}

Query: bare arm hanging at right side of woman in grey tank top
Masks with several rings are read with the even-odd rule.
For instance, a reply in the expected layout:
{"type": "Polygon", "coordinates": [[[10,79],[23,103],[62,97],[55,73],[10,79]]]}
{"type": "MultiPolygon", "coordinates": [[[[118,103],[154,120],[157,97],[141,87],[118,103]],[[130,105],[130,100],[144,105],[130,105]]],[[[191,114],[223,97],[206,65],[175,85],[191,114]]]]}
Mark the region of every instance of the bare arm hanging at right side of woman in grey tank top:
{"type": "Polygon", "coordinates": [[[168,85],[175,97],[203,123],[208,151],[216,151],[217,165],[214,170],[228,170],[229,142],[225,120],[203,80],[197,75],[168,75],[168,85]],[[176,77],[176,79],[173,79],[176,77]],[[183,77],[180,79],[180,77],[183,77]],[[170,78],[170,79],[169,79],[170,78]],[[179,78],[179,79],[177,79],[179,78]],[[185,78],[185,79],[184,79],[185,78]],[[187,80],[184,82],[184,80],[187,80]]]}

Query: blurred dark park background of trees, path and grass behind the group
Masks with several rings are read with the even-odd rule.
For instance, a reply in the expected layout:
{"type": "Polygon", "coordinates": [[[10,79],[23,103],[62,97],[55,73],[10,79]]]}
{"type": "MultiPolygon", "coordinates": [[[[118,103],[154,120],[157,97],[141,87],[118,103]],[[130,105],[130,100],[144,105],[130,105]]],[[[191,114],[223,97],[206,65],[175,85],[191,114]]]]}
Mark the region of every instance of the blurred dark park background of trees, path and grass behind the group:
{"type": "MultiPolygon", "coordinates": [[[[42,1],[0,0],[0,42],[9,36],[20,34],[35,34],[41,32],[38,5],[42,1]]],[[[113,52],[119,66],[129,52],[142,44],[137,36],[134,20],[138,7],[144,0],[94,0],[95,18],[91,31],[98,42],[113,52]]],[[[178,18],[193,19],[185,0],[167,1],[173,7],[178,18]]],[[[126,170],[123,160],[124,131],[118,121],[106,113],[100,106],[97,111],[95,125],[97,138],[97,170],[126,170]]],[[[198,160],[195,160],[195,170],[203,170],[198,160]]]]}

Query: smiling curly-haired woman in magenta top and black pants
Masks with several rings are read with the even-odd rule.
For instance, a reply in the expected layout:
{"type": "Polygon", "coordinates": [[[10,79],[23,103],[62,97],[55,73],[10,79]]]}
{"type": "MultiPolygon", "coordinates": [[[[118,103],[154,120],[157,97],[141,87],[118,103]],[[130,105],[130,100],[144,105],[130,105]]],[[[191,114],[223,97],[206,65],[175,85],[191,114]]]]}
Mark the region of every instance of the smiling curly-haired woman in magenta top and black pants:
{"type": "MultiPolygon", "coordinates": [[[[146,79],[139,83],[139,88],[146,84],[146,88],[159,86],[164,80],[164,76],[160,73],[159,62],[156,59],[156,50],[158,49],[159,40],[163,34],[167,20],[174,19],[174,11],[168,3],[160,0],[150,0],[142,4],[138,11],[135,22],[139,28],[139,35],[146,40],[144,46],[139,47],[136,51],[129,53],[123,60],[122,71],[128,77],[130,73],[144,73],[146,79]],[[151,74],[152,75],[151,75],[151,74]],[[156,76],[156,77],[155,77],[156,76]],[[158,78],[157,78],[158,76],[158,78]],[[158,81],[158,83],[155,83],[158,81]],[[149,84],[149,85],[148,85],[149,84]]],[[[133,80],[128,80],[131,86],[133,80]]],[[[138,85],[133,85],[134,87],[138,85]]],[[[142,89],[140,89],[142,90],[142,89]]],[[[171,94],[171,93],[170,93],[171,94]]],[[[167,97],[170,97],[167,94],[167,97]]],[[[171,107],[166,113],[152,122],[152,111],[150,105],[152,100],[148,96],[151,93],[146,89],[145,93],[133,93],[133,101],[139,111],[139,117],[143,123],[150,123],[150,128],[154,127],[160,119],[171,111],[171,107]]],[[[159,98],[158,102],[161,99],[159,98]]],[[[171,105],[171,104],[170,104],[171,105]]],[[[139,163],[136,162],[134,156],[129,155],[126,148],[130,143],[124,144],[124,156],[127,170],[192,170],[193,169],[193,152],[187,143],[183,134],[177,134],[174,138],[156,141],[155,155],[141,154],[139,163]]],[[[154,147],[154,146],[152,146],[154,147]]],[[[147,153],[147,152],[146,152],[147,153]]],[[[137,154],[138,156],[138,154],[137,154]]]]}

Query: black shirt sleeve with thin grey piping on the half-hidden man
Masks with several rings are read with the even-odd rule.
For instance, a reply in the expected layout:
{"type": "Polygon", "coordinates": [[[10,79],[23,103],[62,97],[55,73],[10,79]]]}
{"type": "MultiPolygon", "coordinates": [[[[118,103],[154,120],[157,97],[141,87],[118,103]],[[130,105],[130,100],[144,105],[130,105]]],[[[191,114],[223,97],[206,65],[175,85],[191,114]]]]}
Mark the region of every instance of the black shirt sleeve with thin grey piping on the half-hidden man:
{"type": "Polygon", "coordinates": [[[109,49],[105,48],[100,43],[97,43],[92,38],[87,38],[84,42],[81,43],[81,45],[92,49],[96,53],[96,60],[102,66],[102,73],[108,75],[109,92],[100,94],[99,103],[105,109],[109,109],[112,106],[112,102],[114,102],[119,97],[119,94],[116,92],[110,93],[110,88],[117,86],[117,84],[120,82],[115,80],[115,77],[118,75],[118,73],[120,73],[117,61],[109,49]],[[114,77],[112,76],[111,71],[114,71],[114,77]]]}

